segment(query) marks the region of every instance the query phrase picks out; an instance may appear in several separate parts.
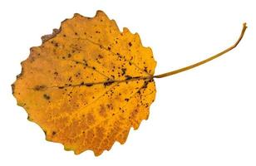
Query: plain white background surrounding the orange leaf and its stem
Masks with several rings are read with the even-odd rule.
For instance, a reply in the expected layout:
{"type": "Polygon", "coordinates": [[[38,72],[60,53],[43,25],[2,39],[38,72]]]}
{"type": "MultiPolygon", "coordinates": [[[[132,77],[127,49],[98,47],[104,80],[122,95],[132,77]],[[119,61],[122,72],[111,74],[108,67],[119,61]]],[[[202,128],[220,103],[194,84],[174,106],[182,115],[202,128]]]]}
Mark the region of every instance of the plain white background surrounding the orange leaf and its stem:
{"type": "Polygon", "coordinates": [[[1,1],[0,165],[256,165],[256,5],[240,1],[1,1]],[[139,32],[158,62],[155,74],[203,60],[248,30],[237,48],[214,61],[156,81],[150,119],[126,144],[95,157],[47,142],[16,105],[11,84],[20,61],[66,17],[101,9],[139,32]]]}

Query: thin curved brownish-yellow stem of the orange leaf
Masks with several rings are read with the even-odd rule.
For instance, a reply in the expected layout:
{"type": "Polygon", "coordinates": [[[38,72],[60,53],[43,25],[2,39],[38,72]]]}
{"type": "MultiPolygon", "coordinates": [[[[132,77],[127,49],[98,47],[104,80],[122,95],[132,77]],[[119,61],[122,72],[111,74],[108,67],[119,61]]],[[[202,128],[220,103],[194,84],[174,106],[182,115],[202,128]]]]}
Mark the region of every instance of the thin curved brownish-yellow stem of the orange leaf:
{"type": "Polygon", "coordinates": [[[240,34],[240,36],[239,36],[238,41],[236,41],[233,46],[230,46],[229,48],[225,49],[224,51],[221,51],[221,52],[219,52],[218,54],[216,54],[216,55],[214,55],[214,56],[211,56],[211,57],[205,59],[204,61],[199,61],[199,62],[197,62],[197,63],[194,63],[193,65],[185,66],[185,67],[180,68],[180,69],[178,69],[178,70],[166,72],[166,73],[164,73],[164,74],[160,74],[160,75],[153,76],[153,77],[154,77],[154,78],[163,78],[163,77],[165,77],[165,76],[172,76],[172,75],[175,75],[175,74],[177,74],[177,73],[180,73],[180,72],[183,72],[183,71],[188,71],[188,70],[190,70],[190,69],[192,69],[192,68],[194,68],[194,67],[203,65],[204,63],[206,63],[206,62],[208,62],[208,61],[212,61],[212,60],[214,60],[215,58],[224,55],[224,54],[227,53],[228,51],[231,51],[232,49],[234,49],[234,47],[238,46],[239,41],[241,41],[242,38],[244,37],[244,32],[245,32],[246,28],[247,28],[246,23],[244,23],[244,24],[243,24],[243,29],[242,29],[242,32],[241,32],[241,34],[240,34]]]}

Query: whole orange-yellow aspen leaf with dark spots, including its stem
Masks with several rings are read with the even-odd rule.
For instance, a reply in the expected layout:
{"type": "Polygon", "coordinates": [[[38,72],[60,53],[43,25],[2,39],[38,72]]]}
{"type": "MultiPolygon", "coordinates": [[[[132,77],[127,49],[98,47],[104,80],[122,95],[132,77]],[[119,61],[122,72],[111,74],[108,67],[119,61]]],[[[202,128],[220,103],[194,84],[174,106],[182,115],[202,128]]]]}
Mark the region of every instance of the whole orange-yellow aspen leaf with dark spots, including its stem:
{"type": "Polygon", "coordinates": [[[153,53],[137,33],[121,32],[101,11],[95,17],[75,14],[43,36],[41,46],[31,48],[12,93],[47,140],[75,154],[90,149],[97,156],[116,141],[124,144],[130,128],[148,119],[154,78],[189,70],[225,52],[154,76],[153,53]]]}

